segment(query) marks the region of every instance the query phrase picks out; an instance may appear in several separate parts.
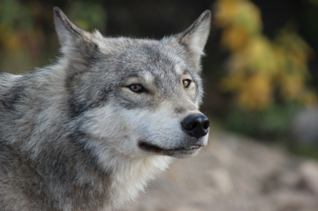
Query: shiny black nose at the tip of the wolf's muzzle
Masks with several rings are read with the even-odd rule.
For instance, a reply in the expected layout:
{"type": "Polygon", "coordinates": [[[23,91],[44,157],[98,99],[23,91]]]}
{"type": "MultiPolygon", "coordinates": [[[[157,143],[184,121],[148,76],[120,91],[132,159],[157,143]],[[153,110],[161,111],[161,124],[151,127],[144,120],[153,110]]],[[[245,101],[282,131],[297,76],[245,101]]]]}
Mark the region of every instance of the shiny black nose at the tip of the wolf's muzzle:
{"type": "Polygon", "coordinates": [[[206,135],[208,133],[208,126],[210,126],[210,121],[208,121],[208,117],[204,114],[192,114],[182,121],[184,131],[196,138],[206,135]]]}

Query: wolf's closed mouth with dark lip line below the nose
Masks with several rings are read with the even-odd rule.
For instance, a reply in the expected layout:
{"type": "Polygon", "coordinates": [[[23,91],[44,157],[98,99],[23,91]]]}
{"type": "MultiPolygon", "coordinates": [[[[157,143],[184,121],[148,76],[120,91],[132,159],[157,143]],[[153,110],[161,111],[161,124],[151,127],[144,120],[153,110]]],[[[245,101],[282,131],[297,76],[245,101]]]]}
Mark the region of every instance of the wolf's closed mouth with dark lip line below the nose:
{"type": "Polygon", "coordinates": [[[146,142],[141,141],[141,142],[139,142],[139,147],[141,148],[141,150],[144,150],[146,152],[175,156],[175,155],[192,155],[194,152],[199,150],[201,147],[204,147],[204,145],[194,144],[194,145],[188,145],[185,147],[176,147],[176,148],[171,148],[171,149],[165,149],[162,147],[158,147],[157,145],[153,145],[151,143],[146,143],[146,142]]]}

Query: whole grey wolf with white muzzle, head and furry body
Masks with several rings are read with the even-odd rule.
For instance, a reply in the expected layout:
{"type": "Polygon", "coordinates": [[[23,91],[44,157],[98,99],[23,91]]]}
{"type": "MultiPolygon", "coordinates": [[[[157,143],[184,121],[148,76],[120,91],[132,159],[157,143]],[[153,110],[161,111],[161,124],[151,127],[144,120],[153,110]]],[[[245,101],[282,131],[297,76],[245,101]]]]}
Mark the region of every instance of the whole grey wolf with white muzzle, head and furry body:
{"type": "Polygon", "coordinates": [[[0,210],[115,210],[175,157],[208,143],[199,111],[204,11],[162,40],[103,37],[54,23],[61,56],[0,73],[0,210]]]}

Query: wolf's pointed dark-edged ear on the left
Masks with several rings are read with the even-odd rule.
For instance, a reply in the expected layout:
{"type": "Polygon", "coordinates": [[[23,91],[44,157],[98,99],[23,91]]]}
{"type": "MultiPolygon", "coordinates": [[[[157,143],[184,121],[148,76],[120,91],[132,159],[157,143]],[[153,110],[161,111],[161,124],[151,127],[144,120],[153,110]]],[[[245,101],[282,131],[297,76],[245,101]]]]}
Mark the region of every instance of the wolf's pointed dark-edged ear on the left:
{"type": "Polygon", "coordinates": [[[65,56],[73,55],[73,59],[76,59],[76,56],[93,55],[97,47],[92,40],[93,34],[73,24],[58,7],[54,7],[54,23],[61,44],[61,52],[65,56]]]}

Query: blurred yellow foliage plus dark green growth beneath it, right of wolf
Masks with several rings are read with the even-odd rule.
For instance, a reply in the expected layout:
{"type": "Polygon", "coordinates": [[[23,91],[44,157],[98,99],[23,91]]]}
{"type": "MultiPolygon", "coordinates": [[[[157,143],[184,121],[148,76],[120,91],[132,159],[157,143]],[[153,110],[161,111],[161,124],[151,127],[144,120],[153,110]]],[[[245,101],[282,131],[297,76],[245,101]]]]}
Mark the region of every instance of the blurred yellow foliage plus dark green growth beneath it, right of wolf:
{"type": "Polygon", "coordinates": [[[221,89],[232,93],[225,127],[257,138],[281,138],[302,106],[317,104],[308,86],[313,50],[287,24],[273,40],[262,33],[260,9],[248,0],[218,0],[220,44],[230,52],[221,89]]]}

